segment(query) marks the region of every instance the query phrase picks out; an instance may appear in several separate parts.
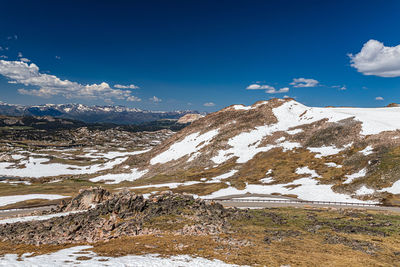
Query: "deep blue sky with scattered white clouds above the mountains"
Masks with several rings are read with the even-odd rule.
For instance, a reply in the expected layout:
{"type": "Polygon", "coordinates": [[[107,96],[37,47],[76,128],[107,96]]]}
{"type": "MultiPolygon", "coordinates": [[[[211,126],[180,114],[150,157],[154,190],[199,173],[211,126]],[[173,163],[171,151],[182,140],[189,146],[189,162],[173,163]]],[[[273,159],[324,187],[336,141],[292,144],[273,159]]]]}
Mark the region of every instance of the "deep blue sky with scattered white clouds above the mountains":
{"type": "Polygon", "coordinates": [[[400,102],[398,14],[400,1],[6,0],[0,101],[384,106],[400,102]]]}

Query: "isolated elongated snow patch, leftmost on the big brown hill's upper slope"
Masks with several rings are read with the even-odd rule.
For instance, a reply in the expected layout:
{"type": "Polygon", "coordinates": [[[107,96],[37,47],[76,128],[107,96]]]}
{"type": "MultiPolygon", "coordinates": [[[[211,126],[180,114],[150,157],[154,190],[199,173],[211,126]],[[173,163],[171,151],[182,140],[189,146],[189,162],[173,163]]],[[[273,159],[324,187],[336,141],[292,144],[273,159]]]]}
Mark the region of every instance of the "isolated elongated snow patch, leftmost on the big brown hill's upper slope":
{"type": "Polygon", "coordinates": [[[190,155],[202,149],[210,143],[219,130],[211,130],[204,134],[193,133],[186,136],[183,140],[174,143],[170,148],[150,160],[150,164],[166,163],[171,160],[177,160],[183,156],[190,155]]]}

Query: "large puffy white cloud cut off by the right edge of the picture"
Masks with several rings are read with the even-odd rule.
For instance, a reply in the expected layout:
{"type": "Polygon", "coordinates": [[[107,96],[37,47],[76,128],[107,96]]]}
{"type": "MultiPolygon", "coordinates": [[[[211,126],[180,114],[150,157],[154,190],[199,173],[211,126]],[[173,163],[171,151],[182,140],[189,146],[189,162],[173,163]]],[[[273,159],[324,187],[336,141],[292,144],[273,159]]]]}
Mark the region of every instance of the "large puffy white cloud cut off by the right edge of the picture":
{"type": "Polygon", "coordinates": [[[366,42],[361,51],[349,54],[351,66],[364,75],[400,76],[400,45],[385,46],[377,40],[366,42]]]}

